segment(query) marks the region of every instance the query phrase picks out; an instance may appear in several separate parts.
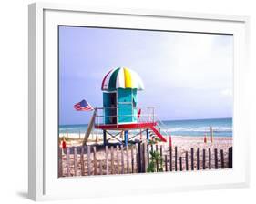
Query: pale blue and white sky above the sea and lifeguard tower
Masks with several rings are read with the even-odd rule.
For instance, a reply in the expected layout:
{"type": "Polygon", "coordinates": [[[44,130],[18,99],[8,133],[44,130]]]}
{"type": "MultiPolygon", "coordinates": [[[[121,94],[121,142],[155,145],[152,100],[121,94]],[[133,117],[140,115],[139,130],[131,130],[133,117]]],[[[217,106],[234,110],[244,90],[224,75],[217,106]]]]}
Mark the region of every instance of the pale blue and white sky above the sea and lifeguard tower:
{"type": "Polygon", "coordinates": [[[232,117],[233,36],[60,26],[59,123],[87,123],[74,104],[102,107],[102,79],[120,66],[144,82],[138,106],[162,120],[232,117]]]}

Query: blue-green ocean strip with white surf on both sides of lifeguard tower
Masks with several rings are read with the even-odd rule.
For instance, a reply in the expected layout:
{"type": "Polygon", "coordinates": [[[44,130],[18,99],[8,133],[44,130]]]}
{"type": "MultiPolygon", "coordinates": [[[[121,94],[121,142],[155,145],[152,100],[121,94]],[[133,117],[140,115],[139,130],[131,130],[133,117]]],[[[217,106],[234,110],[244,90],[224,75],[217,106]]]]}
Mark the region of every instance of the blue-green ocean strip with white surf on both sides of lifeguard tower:
{"type": "MultiPolygon", "coordinates": [[[[172,136],[210,136],[210,127],[214,136],[232,137],[232,118],[188,119],[162,121],[161,130],[172,136]]],[[[85,133],[87,124],[60,125],[59,133],[85,133]]],[[[98,130],[97,130],[98,131],[98,130]]]]}

